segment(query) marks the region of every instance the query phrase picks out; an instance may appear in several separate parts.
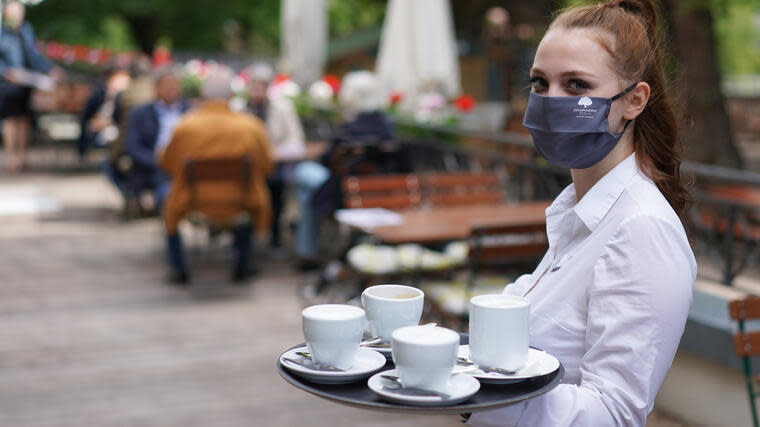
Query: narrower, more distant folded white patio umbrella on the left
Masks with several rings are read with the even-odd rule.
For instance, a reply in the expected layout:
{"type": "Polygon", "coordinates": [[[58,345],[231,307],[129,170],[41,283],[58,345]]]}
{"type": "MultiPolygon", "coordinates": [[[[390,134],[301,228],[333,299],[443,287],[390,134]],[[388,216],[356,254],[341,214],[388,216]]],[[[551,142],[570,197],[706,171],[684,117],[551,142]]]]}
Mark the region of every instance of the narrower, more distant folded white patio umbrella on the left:
{"type": "Polygon", "coordinates": [[[322,77],[327,60],[325,0],[282,0],[281,69],[302,87],[322,77]]]}

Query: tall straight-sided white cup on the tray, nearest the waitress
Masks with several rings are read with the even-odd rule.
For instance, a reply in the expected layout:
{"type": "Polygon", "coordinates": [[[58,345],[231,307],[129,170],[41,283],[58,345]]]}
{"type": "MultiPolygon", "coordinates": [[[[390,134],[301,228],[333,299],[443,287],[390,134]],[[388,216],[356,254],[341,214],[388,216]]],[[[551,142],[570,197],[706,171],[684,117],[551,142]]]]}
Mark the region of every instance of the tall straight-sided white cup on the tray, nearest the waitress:
{"type": "Polygon", "coordinates": [[[516,371],[528,360],[530,302],[504,294],[470,299],[470,359],[479,366],[516,371]]]}

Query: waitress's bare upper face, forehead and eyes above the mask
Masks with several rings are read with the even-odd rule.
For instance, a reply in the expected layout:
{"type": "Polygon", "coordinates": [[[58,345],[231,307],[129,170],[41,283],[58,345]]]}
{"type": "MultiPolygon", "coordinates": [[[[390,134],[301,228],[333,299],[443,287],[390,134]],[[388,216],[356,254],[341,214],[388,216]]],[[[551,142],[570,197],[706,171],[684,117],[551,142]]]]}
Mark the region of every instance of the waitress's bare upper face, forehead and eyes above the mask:
{"type": "MultiPolygon", "coordinates": [[[[612,69],[612,57],[599,43],[604,34],[593,29],[555,28],[538,45],[530,70],[531,90],[543,96],[611,98],[623,90],[612,69]]],[[[619,132],[624,100],[610,107],[610,130],[619,132]]]]}

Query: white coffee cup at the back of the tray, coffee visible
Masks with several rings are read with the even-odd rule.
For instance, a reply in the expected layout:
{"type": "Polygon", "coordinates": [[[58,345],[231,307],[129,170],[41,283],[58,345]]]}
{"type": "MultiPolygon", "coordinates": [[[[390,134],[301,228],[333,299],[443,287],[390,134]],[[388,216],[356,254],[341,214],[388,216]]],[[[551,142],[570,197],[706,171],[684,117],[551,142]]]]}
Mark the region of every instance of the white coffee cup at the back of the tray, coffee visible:
{"type": "Polygon", "coordinates": [[[425,293],[404,285],[371,286],[362,292],[362,306],[367,312],[367,326],[373,337],[391,341],[398,328],[420,323],[425,293]]]}

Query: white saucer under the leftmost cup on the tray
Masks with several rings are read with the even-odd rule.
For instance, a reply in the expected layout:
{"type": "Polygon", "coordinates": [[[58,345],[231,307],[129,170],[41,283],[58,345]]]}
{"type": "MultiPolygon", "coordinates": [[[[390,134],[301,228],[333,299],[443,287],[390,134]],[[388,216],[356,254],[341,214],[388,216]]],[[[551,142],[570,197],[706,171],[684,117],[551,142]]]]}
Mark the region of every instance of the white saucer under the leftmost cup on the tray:
{"type": "Polygon", "coordinates": [[[308,359],[304,359],[297,355],[296,352],[298,351],[308,350],[305,345],[288,350],[280,355],[280,364],[295,375],[318,384],[345,384],[358,381],[377,372],[385,366],[386,362],[385,356],[364,347],[359,347],[359,350],[356,352],[356,358],[354,359],[354,364],[351,369],[342,372],[310,369],[283,360],[284,357],[287,357],[289,359],[303,361],[307,364],[310,363],[308,359]]]}

